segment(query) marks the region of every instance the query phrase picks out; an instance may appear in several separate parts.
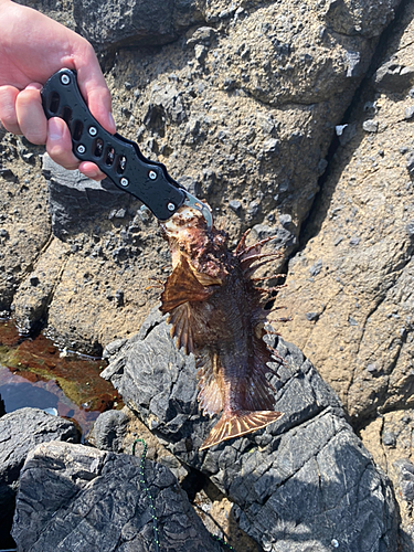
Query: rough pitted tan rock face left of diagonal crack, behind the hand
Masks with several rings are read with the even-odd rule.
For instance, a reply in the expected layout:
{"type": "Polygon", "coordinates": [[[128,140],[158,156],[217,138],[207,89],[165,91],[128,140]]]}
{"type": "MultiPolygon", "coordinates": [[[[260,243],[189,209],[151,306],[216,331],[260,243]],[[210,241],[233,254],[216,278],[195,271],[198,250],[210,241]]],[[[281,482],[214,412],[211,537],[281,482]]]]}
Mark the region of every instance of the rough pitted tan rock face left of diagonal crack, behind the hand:
{"type": "MultiPolygon", "coordinates": [[[[28,3],[75,25],[68,2],[28,3]]],[[[289,254],[333,128],[397,4],[180,0],[159,9],[156,0],[135,0],[93,9],[91,0],[76,1],[74,14],[103,52],[116,49],[102,60],[118,131],[208,199],[232,240],[254,227],[277,235],[289,254]],[[138,35],[147,46],[127,47],[138,35]]],[[[96,353],[136,332],[155,305],[149,278],[168,272],[166,246],[137,202],[119,198],[105,210],[112,192],[47,169],[51,221],[40,152],[20,139],[1,147],[0,244],[8,255],[0,252],[0,310],[14,309],[26,331],[47,321],[60,344],[96,353]]]]}

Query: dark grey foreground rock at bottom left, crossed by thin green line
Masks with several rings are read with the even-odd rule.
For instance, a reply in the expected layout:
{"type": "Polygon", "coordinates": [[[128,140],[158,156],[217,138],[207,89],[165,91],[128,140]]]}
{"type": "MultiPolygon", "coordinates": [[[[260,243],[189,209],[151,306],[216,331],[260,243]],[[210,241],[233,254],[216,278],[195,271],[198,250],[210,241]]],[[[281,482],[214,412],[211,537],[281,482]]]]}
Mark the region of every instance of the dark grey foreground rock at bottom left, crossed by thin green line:
{"type": "Polygon", "coordinates": [[[144,470],[146,482],[140,458],[82,445],[40,445],[21,474],[12,529],[18,550],[155,550],[155,511],[160,550],[219,552],[172,473],[148,460],[144,470]]]}

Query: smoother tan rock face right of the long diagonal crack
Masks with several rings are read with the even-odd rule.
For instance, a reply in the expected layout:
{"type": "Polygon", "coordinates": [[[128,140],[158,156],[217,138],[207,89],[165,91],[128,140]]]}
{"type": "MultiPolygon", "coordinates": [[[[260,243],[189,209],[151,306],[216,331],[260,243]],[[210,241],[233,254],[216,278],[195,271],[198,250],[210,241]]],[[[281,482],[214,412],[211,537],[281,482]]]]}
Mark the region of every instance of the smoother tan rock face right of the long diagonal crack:
{"type": "MultiPolygon", "coordinates": [[[[380,66],[390,60],[410,65],[413,19],[408,3],[384,43],[380,66]]],[[[414,151],[412,123],[403,117],[412,98],[401,93],[373,92],[368,82],[361,88],[348,120],[355,135],[331,159],[321,203],[275,301],[291,317],[284,336],[331,383],[355,428],[414,405],[414,151]],[[363,120],[379,130],[367,132],[363,120]],[[309,270],[321,258],[323,269],[311,280],[309,270]],[[309,320],[308,312],[320,312],[318,320],[309,320]]]]}

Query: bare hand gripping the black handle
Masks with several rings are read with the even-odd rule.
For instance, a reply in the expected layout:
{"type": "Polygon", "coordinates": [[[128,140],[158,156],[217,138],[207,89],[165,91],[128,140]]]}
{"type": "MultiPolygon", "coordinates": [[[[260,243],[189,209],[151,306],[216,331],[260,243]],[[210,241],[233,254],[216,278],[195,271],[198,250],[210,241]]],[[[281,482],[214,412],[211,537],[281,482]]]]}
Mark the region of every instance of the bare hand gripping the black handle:
{"type": "Polygon", "coordinates": [[[76,70],[77,83],[92,115],[114,134],[110,93],[91,44],[75,32],[31,8],[0,0],[0,121],[7,130],[45,144],[47,153],[66,169],[102,180],[95,163],[79,161],[63,119],[43,113],[40,91],[60,68],[76,70]]]}

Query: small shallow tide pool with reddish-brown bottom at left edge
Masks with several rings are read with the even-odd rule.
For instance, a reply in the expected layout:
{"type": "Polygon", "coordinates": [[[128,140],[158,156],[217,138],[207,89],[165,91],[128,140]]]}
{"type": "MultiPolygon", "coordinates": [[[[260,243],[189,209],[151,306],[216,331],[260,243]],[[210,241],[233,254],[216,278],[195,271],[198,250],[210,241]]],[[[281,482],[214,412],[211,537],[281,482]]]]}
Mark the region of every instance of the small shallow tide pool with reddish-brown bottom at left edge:
{"type": "Polygon", "coordinates": [[[123,406],[99,376],[105,367],[100,359],[60,351],[42,335],[22,338],[12,322],[0,320],[0,397],[7,413],[47,410],[75,421],[85,438],[102,412],[123,406]]]}

